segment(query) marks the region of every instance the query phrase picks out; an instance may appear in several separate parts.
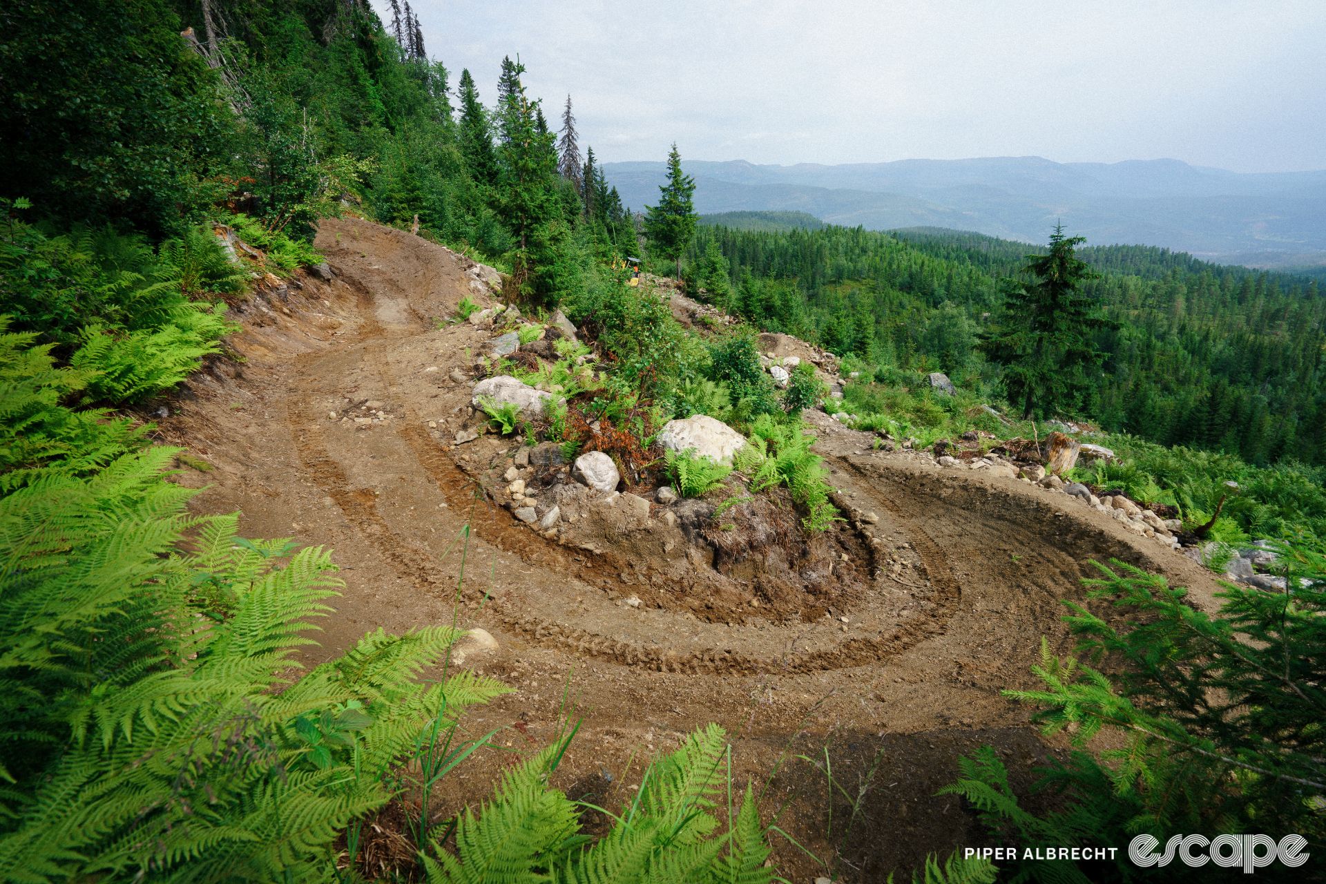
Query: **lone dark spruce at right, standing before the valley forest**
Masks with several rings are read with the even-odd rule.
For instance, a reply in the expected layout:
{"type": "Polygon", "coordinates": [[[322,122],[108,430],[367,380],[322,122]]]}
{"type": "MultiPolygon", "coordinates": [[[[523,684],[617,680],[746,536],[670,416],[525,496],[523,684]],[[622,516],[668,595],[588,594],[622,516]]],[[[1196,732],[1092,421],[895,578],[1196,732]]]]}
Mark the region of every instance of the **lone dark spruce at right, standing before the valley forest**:
{"type": "Polygon", "coordinates": [[[1098,300],[1078,290],[1097,278],[1075,254],[1085,241],[1055,225],[1050,250],[1028,256],[1022,268],[1033,281],[1004,281],[1002,306],[981,339],[985,355],[1004,367],[1004,391],[1025,419],[1079,407],[1105,360],[1094,333],[1111,323],[1098,300]]]}

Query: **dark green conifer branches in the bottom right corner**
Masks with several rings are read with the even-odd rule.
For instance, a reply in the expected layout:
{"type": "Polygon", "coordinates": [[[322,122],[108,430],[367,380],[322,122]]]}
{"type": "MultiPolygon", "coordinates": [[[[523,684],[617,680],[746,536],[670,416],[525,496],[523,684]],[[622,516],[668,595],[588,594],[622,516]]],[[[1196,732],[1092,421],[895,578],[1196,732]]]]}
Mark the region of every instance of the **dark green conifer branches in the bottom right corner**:
{"type": "MultiPolygon", "coordinates": [[[[1205,831],[1298,832],[1321,844],[1326,559],[1282,549],[1294,591],[1228,586],[1219,616],[1184,604],[1184,590],[1163,578],[1123,563],[1098,567],[1091,598],[1124,616],[1107,622],[1067,603],[1078,652],[1061,660],[1042,644],[1033,672],[1044,689],[1005,692],[1040,706],[1046,733],[1071,737],[1074,751],[1037,785],[1058,810],[1022,808],[989,749],[965,759],[944,791],[968,799],[992,831],[1012,826],[1026,843],[1123,844],[1138,832],[1164,842],[1205,831]],[[1101,659],[1114,675],[1087,663],[1101,659]],[[1106,747],[1089,751],[1101,734],[1106,747]]],[[[1118,863],[1109,880],[1130,879],[1131,864],[1123,855],[1118,863]]],[[[1021,873],[1106,880],[1066,863],[1025,864],[1021,873]]]]}

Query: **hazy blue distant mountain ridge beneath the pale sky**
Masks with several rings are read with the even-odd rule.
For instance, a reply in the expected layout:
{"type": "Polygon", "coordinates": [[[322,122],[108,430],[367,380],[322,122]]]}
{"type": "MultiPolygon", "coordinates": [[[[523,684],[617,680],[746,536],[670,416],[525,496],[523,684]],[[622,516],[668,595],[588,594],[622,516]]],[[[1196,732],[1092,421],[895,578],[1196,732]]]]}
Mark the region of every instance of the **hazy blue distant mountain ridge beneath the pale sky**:
{"type": "MultiPolygon", "coordinates": [[[[757,166],[684,162],[696,211],[806,212],[870,229],[943,227],[1041,243],[1057,221],[1093,244],[1142,244],[1249,266],[1326,265],[1326,170],[1231,172],[1181,160],[1055,163],[1040,156],[757,166]]],[[[605,163],[634,208],[663,163],[605,163]]]]}

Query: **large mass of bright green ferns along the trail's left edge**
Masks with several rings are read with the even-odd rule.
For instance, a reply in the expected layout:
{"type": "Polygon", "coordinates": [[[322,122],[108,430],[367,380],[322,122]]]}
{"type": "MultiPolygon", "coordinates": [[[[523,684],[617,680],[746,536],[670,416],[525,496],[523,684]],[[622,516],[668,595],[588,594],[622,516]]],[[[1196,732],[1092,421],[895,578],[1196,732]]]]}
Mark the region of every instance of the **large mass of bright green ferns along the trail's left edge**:
{"type": "Polygon", "coordinates": [[[418,734],[503,688],[419,683],[447,627],[369,634],[300,676],[339,586],[329,554],[187,514],[194,492],[162,480],[176,449],[60,415],[81,375],[28,341],[0,337],[0,412],[17,417],[0,427],[17,452],[0,493],[0,863],[30,881],[332,876],[418,734]]]}

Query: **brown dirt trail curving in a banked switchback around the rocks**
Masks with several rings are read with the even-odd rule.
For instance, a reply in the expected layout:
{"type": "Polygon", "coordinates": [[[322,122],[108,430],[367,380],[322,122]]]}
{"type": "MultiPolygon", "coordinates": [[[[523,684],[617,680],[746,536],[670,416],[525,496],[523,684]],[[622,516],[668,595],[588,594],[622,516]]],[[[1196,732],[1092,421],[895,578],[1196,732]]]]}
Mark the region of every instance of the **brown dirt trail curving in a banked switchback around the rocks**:
{"type": "MultiPolygon", "coordinates": [[[[1032,684],[1042,636],[1066,649],[1059,599],[1081,598],[1087,559],[1166,571],[1199,602],[1215,588],[1183,557],[1070,498],[873,452],[869,435],[814,412],[841,508],[878,514],[854,522],[875,538],[866,598],[797,624],[625,606],[636,574],[518,526],[451,457],[448,425],[468,410],[469,384],[450,371],[488,337],[435,322],[465,294],[483,300],[464,260],[355,220],[328,221],[317,245],[337,278],[256,302],[233,341],[240,370],[198,376],[164,421],[168,441],[215,465],[183,478],[210,486],[200,510],[243,510],[249,534],[335,550],[346,590],[317,653],[377,627],[459,619],[492,632],[503,649],[483,669],[517,692],[467,725],[516,725],[508,745],[542,745],[573,705],[585,720],[561,771],[573,797],[622,801],[638,750],[666,750],[708,721],[737,736],[743,775],[827,744],[849,789],[875,767],[847,842],[827,832],[823,778],[804,762],[773,781],[772,806],[786,802],[784,828],[812,850],[841,847],[849,879],[873,880],[983,843],[956,801],[931,798],[957,754],[992,744],[1022,770],[1045,753],[1028,710],[998,692],[1032,684]],[[366,417],[342,420],[351,415],[366,417]],[[884,567],[891,554],[911,567],[884,567]]],[[[480,795],[499,762],[456,777],[455,799],[480,795]]],[[[780,860],[812,875],[794,850],[780,860]]]]}

